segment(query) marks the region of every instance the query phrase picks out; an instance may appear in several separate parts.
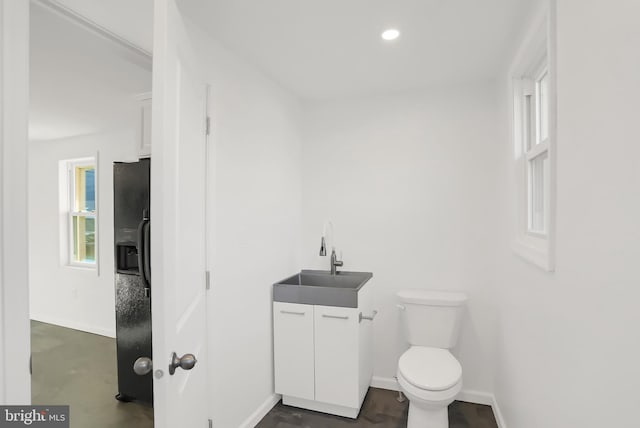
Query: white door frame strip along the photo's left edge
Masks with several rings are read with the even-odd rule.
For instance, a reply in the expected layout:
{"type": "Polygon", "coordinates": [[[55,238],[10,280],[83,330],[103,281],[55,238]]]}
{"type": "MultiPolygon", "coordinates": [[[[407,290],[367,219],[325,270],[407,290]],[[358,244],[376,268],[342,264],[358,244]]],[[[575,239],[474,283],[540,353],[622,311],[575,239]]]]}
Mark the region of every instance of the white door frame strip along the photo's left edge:
{"type": "Polygon", "coordinates": [[[29,2],[0,0],[0,403],[31,402],[27,235],[29,2]]]}

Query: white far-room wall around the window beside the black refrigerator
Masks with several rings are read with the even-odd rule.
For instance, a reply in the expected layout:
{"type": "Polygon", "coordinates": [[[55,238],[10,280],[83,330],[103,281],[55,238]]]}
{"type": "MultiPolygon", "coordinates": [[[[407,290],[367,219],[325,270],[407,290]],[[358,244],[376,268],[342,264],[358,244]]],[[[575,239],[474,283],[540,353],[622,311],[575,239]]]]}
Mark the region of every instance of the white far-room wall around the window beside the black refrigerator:
{"type": "Polygon", "coordinates": [[[135,133],[110,133],[29,143],[31,318],[115,337],[113,162],[135,156],[135,133]],[[59,161],[98,156],[96,269],[66,266],[60,256],[59,161]]]}

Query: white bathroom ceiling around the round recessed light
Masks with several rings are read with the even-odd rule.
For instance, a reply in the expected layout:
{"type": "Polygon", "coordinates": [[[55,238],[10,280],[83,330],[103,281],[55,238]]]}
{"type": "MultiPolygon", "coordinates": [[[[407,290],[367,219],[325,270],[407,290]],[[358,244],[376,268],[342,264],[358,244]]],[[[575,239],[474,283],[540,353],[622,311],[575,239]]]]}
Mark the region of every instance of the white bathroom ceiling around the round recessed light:
{"type": "Polygon", "coordinates": [[[494,78],[537,0],[181,0],[189,19],[306,99],[494,78]],[[381,32],[395,27],[399,39],[381,32]]]}

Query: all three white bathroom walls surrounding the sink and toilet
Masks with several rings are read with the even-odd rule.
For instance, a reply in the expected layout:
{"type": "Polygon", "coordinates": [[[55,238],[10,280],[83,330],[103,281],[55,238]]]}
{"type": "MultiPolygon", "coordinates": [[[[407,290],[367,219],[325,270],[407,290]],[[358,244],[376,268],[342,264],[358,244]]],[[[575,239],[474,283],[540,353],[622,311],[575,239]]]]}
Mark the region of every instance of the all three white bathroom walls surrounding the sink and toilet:
{"type": "Polygon", "coordinates": [[[295,99],[198,33],[213,84],[214,424],[241,426],[270,403],[271,284],[327,268],[317,251],[331,219],[344,269],[375,275],[378,381],[406,346],[394,293],[462,289],[469,397],[495,392],[511,428],[628,425],[640,377],[629,334],[640,322],[640,40],[639,6],[619,6],[558,11],[554,274],[509,250],[506,81],[308,105],[301,153],[295,99]]]}

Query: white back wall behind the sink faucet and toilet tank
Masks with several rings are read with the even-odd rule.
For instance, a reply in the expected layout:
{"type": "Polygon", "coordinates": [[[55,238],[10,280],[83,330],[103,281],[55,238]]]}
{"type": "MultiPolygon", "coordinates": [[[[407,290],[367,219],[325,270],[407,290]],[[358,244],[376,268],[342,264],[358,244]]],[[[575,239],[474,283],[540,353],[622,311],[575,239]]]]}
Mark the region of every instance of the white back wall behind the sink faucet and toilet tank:
{"type": "Polygon", "coordinates": [[[330,219],[343,269],[373,272],[374,385],[396,387],[408,346],[395,293],[464,290],[464,389],[492,391],[497,106],[495,86],[478,83],[305,110],[303,267],[329,268],[318,250],[330,219]]]}

